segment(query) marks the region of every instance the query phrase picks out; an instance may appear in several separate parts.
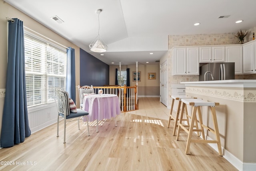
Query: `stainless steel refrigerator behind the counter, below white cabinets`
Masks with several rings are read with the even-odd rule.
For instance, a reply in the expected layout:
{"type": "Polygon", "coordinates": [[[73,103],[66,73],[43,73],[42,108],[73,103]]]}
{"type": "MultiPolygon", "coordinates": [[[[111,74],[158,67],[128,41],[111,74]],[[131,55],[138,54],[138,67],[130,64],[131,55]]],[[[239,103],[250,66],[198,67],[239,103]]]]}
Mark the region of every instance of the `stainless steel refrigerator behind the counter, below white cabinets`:
{"type": "MultiPolygon", "coordinates": [[[[199,81],[204,81],[204,75],[207,71],[212,73],[214,80],[234,80],[235,79],[235,63],[221,62],[221,63],[204,63],[200,66],[199,81]]],[[[206,73],[206,80],[211,81],[211,74],[206,73]]]]}

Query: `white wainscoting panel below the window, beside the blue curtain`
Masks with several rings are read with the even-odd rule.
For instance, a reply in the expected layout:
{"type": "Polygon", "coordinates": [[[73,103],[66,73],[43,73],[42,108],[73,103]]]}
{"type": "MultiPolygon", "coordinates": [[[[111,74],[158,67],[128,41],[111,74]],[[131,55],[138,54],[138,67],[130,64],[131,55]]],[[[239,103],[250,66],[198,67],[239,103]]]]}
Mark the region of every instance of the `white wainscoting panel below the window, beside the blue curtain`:
{"type": "Polygon", "coordinates": [[[28,122],[31,133],[37,132],[57,122],[56,104],[40,105],[28,108],[28,122]]]}

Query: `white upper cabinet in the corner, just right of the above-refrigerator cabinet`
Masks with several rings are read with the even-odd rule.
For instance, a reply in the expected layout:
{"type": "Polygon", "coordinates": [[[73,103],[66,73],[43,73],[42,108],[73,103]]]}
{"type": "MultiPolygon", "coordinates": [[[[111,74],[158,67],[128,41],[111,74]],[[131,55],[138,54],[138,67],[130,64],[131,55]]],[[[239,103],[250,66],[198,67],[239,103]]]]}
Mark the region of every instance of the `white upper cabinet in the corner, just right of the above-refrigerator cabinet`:
{"type": "Polygon", "coordinates": [[[235,74],[243,73],[243,47],[238,46],[226,46],[226,62],[235,63],[235,74]]]}

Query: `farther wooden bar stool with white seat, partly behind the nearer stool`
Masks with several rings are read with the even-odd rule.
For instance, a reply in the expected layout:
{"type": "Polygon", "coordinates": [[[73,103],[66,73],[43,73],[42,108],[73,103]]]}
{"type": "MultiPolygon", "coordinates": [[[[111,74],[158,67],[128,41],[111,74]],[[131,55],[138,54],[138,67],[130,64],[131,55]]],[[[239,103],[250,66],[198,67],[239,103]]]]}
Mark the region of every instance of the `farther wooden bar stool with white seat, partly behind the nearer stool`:
{"type": "MultiPolygon", "coordinates": [[[[178,127],[178,120],[180,120],[180,118],[182,118],[181,121],[187,121],[188,126],[189,126],[189,120],[188,120],[188,118],[191,118],[191,117],[188,115],[188,110],[187,110],[186,105],[184,106],[185,112],[186,112],[186,119],[183,118],[183,114],[182,114],[182,117],[179,118],[181,100],[182,100],[183,98],[193,98],[193,97],[189,97],[189,96],[186,96],[186,95],[172,95],[171,97],[172,97],[172,106],[171,106],[171,110],[170,110],[170,115],[169,115],[169,120],[168,120],[167,128],[170,128],[170,122],[171,122],[171,120],[174,120],[174,129],[173,129],[172,135],[175,136],[175,134],[176,134],[176,128],[178,127]],[[178,100],[178,106],[177,106],[176,117],[174,117],[174,116],[172,115],[174,100],[178,100]]],[[[183,110],[182,112],[184,112],[184,110],[183,110]]],[[[197,124],[197,122],[196,122],[196,128],[198,129],[198,124],[197,124]]],[[[199,132],[198,132],[198,136],[200,136],[199,132]]]]}

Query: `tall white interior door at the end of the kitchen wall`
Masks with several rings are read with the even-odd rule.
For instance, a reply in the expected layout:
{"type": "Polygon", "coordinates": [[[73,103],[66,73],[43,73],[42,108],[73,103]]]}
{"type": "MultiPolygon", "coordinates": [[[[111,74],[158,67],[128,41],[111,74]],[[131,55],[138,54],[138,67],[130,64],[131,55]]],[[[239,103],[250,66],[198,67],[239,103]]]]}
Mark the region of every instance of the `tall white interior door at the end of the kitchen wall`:
{"type": "Polygon", "coordinates": [[[167,75],[167,61],[164,61],[160,64],[160,102],[167,106],[167,83],[168,83],[168,75],[167,75]]]}

